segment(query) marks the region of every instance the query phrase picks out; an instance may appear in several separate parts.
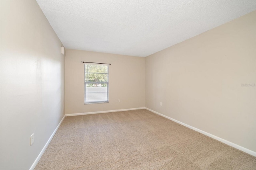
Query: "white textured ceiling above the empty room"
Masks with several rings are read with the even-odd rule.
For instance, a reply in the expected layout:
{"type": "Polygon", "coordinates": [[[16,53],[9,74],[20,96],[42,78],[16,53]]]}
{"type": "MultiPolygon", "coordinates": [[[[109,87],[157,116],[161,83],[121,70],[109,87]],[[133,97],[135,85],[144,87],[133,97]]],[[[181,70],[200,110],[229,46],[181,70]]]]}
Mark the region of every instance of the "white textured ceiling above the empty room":
{"type": "Polygon", "coordinates": [[[146,57],[256,10],[256,0],[36,0],[64,47],[146,57]]]}

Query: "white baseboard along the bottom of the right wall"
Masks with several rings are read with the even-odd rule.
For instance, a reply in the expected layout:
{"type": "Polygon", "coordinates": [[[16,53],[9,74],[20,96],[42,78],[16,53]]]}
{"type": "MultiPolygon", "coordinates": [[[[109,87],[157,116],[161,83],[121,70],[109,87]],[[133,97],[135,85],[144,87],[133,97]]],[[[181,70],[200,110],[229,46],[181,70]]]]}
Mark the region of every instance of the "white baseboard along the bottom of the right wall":
{"type": "Polygon", "coordinates": [[[234,143],[232,143],[232,142],[230,142],[230,141],[227,141],[227,140],[222,139],[222,138],[220,138],[220,137],[214,136],[214,135],[212,135],[212,134],[210,134],[210,133],[207,133],[207,132],[202,131],[202,130],[200,130],[200,129],[197,129],[197,128],[193,127],[193,126],[190,126],[190,125],[187,125],[187,124],[182,123],[182,122],[180,122],[180,121],[177,121],[177,120],[175,120],[175,119],[172,119],[171,117],[168,117],[168,116],[166,116],[166,115],[163,115],[163,114],[161,114],[161,113],[158,113],[158,112],[156,112],[156,111],[154,111],[154,110],[151,110],[151,109],[149,109],[149,108],[147,108],[147,107],[145,107],[145,109],[147,109],[147,110],[149,110],[149,111],[152,111],[153,113],[156,113],[156,114],[158,114],[158,115],[160,115],[160,116],[162,116],[162,117],[165,117],[165,118],[167,118],[167,119],[170,119],[170,120],[172,120],[172,121],[175,121],[176,123],[179,123],[179,124],[181,124],[181,125],[183,125],[183,126],[186,126],[186,127],[190,128],[190,129],[193,129],[194,131],[198,131],[199,133],[202,133],[202,134],[204,134],[204,135],[206,135],[206,136],[208,136],[208,137],[211,137],[211,138],[213,138],[213,139],[216,139],[216,140],[218,140],[218,141],[220,141],[220,142],[222,142],[222,143],[225,143],[226,145],[229,145],[229,146],[234,147],[234,148],[236,148],[236,149],[242,150],[243,152],[246,152],[246,153],[248,153],[248,154],[250,154],[250,155],[252,155],[252,156],[256,156],[256,152],[254,152],[254,151],[252,151],[252,150],[246,149],[246,148],[244,148],[244,147],[241,147],[240,145],[236,145],[236,144],[234,144],[234,143]]]}

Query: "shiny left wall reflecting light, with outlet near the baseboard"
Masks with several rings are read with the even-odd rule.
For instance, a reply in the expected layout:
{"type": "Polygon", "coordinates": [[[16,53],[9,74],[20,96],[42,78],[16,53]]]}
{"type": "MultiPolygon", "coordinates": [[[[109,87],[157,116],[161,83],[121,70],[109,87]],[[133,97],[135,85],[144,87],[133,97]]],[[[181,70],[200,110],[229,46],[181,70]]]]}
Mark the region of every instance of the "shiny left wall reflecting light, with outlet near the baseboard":
{"type": "Polygon", "coordinates": [[[64,116],[62,43],[36,1],[0,12],[0,169],[28,170],[64,116]]]}

